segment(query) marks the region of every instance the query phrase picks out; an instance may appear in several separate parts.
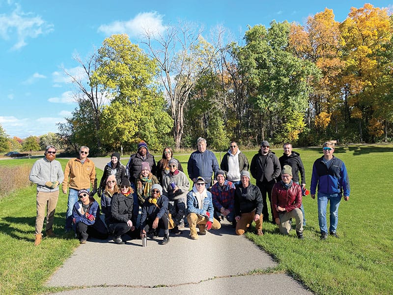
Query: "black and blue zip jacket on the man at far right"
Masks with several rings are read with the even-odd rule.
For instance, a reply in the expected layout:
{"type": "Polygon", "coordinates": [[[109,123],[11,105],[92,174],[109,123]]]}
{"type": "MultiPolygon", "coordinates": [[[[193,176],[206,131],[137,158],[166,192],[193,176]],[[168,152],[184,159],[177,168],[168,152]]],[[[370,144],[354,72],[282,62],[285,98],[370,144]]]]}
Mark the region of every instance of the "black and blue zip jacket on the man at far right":
{"type": "Polygon", "coordinates": [[[310,194],[315,195],[318,188],[321,193],[349,196],[349,178],[344,162],[333,156],[328,169],[323,157],[316,159],[312,165],[310,194]]]}

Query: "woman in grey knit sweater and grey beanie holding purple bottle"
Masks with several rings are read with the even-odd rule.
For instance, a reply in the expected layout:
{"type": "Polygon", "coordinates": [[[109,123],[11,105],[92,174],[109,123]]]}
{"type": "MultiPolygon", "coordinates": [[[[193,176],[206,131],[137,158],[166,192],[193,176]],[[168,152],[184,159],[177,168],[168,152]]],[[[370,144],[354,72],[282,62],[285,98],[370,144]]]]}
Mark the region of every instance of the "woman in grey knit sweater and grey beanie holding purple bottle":
{"type": "Polygon", "coordinates": [[[184,227],[183,217],[186,213],[187,193],[190,181],[187,176],[178,169],[178,161],[170,159],[168,162],[169,173],[164,177],[163,191],[169,199],[168,210],[172,214],[175,227],[171,230],[175,235],[180,235],[179,227],[184,227]]]}

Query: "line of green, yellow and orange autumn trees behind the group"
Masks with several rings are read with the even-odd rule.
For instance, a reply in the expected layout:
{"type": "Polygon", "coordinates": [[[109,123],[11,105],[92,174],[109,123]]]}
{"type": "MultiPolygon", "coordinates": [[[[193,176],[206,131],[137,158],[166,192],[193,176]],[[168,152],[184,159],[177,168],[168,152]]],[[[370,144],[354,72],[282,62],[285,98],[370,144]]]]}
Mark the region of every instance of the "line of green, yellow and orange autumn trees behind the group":
{"type": "Polygon", "coordinates": [[[388,10],[365,4],[342,23],[325,9],[304,26],[249,27],[240,42],[184,23],[146,31],[139,45],[112,35],[76,59],[79,106],[58,136],[94,153],[140,140],[189,148],[199,136],[213,149],[391,141],[392,32],[388,10]]]}

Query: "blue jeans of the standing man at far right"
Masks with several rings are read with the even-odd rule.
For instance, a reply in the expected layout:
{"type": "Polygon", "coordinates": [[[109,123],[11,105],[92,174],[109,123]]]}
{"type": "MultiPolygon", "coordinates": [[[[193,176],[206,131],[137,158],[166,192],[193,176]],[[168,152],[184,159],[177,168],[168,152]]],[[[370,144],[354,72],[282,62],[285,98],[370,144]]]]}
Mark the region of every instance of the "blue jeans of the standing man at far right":
{"type": "Polygon", "coordinates": [[[326,207],[330,202],[330,233],[336,233],[338,223],[338,206],[340,205],[340,194],[325,194],[318,192],[318,221],[321,233],[328,233],[326,221],[326,207]]]}

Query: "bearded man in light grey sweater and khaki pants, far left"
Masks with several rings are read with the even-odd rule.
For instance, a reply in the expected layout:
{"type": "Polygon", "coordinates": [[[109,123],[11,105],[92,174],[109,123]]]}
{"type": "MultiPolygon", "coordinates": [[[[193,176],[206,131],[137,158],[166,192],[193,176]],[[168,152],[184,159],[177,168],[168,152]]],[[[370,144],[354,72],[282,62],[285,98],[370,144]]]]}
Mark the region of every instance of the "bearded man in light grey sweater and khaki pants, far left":
{"type": "Polygon", "coordinates": [[[42,227],[44,225],[45,207],[46,212],[46,236],[53,237],[53,222],[55,219],[55,209],[58,200],[58,186],[64,179],[61,164],[56,159],[56,148],[47,146],[45,157],[37,160],[31,168],[28,179],[37,184],[37,217],[35,219],[35,241],[34,246],[38,246],[42,240],[42,227]]]}

